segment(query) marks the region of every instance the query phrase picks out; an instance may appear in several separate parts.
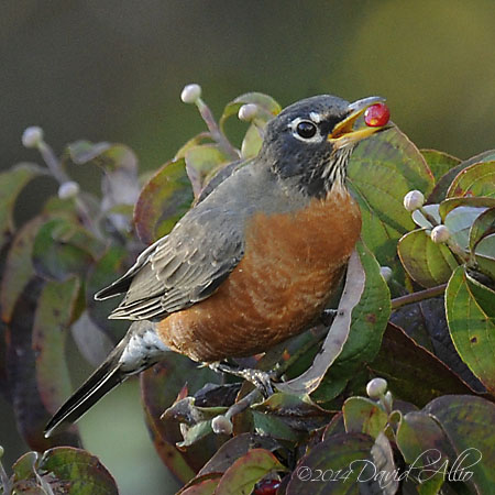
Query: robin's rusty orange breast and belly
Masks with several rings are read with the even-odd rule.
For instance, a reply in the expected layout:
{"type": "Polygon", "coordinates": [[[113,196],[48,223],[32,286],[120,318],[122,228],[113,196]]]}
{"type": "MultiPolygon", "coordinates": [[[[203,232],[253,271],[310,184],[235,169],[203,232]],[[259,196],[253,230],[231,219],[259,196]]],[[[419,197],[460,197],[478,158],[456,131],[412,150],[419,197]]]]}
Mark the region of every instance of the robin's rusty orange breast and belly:
{"type": "Polygon", "coordinates": [[[195,361],[256,354],[304,331],[324,309],[361,230],[350,196],[255,215],[244,257],[208,299],[158,323],[162,340],[195,361]]]}

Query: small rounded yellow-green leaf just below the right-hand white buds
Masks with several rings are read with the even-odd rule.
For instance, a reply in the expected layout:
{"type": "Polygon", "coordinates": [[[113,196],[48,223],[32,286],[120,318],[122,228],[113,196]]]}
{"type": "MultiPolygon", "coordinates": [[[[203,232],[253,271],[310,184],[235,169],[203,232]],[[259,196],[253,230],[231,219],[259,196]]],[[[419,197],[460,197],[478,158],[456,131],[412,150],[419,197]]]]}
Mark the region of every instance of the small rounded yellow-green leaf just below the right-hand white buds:
{"type": "Polygon", "coordinates": [[[444,284],[458,266],[449,248],[435,243],[425,230],[404,235],[397,252],[409,276],[424,287],[444,284]]]}

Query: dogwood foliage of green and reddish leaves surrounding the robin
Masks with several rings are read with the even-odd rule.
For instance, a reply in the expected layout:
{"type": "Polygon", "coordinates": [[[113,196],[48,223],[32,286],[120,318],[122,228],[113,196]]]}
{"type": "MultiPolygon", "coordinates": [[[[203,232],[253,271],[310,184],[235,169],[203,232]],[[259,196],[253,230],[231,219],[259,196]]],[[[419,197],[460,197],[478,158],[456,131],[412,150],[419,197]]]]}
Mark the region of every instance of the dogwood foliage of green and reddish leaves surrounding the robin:
{"type": "MultiPolygon", "coordinates": [[[[67,339],[89,361],[107,352],[122,329],[94,304],[95,290],[252,160],[280,110],[268,96],[245,94],[217,123],[200,98],[195,102],[208,130],[152,176],[139,176],[124,145],[79,141],[57,157],[42,133],[31,145],[47,167],[21,164],[0,174],[0,387],[37,452],[19,459],[10,479],[0,469],[4,493],[117,493],[108,471],[80,448],[76,427],[42,436],[68,395],[67,339]],[[228,120],[253,105],[238,150],[228,120]],[[98,165],[101,195],[72,182],[70,164],[98,165]],[[46,175],[58,180],[58,196],[18,224],[12,212],[22,190],[46,175]]],[[[327,315],[254,361],[285,378],[267,399],[246,383],[219,384],[177,355],[142,374],[146,425],[160,458],[186,484],[182,493],[358,493],[364,485],[387,494],[490,493],[494,154],[462,162],[421,152],[395,125],[358,146],[349,183],[363,230],[337,308],[346,316],[327,315]],[[414,211],[403,205],[410,189],[427,198],[414,211]],[[442,242],[438,228],[447,232],[442,242]],[[381,265],[392,268],[387,280],[381,265]],[[387,380],[380,393],[377,375],[387,380]],[[360,396],[366,384],[369,398],[360,396]],[[466,449],[481,452],[470,459],[471,475],[457,461],[466,449]],[[438,455],[424,458],[426,451],[438,455]],[[355,463],[365,465],[343,469],[355,463]]]]}

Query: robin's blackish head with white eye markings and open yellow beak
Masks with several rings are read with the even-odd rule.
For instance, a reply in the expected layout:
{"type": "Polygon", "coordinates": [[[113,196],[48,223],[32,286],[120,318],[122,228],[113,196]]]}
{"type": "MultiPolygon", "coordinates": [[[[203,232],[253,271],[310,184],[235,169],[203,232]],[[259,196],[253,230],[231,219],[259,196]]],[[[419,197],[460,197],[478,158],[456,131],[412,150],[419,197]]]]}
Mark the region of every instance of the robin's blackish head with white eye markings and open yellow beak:
{"type": "Polygon", "coordinates": [[[266,125],[260,157],[279,177],[294,178],[309,196],[324,197],[333,185],[344,186],[355,145],[388,128],[354,129],[369,107],[383,101],[370,97],[349,103],[321,95],[290,105],[266,125]]]}

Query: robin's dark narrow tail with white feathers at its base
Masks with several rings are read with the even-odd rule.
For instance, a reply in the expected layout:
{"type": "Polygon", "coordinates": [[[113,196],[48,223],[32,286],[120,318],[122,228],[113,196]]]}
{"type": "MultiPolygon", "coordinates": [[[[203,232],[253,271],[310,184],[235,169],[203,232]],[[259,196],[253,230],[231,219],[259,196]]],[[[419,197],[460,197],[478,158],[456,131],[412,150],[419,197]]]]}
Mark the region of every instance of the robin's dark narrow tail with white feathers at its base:
{"type": "Polygon", "coordinates": [[[64,425],[76,422],[100,398],[128,376],[153,366],[169,349],[156,336],[154,324],[136,321],[89,378],[61,406],[45,427],[48,438],[64,425]]]}

